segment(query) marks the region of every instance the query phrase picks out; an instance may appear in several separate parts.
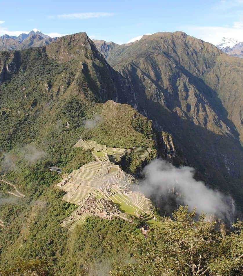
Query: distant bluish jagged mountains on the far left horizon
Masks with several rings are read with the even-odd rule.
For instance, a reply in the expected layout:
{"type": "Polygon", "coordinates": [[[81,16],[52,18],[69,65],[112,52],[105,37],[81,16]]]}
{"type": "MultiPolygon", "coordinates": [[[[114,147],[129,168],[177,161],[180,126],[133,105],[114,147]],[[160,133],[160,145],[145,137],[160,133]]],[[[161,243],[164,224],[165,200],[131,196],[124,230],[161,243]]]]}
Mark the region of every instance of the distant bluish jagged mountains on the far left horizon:
{"type": "Polygon", "coordinates": [[[18,37],[4,34],[0,37],[0,51],[22,50],[30,47],[40,47],[50,44],[56,38],[51,38],[40,31],[20,34],[18,37]]]}

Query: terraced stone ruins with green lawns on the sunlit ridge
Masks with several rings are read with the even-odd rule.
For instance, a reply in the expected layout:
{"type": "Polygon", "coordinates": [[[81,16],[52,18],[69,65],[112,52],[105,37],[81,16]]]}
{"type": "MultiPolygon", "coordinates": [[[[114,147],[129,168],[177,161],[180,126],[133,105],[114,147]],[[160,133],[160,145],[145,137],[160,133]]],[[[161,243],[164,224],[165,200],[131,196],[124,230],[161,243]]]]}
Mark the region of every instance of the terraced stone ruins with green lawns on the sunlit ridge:
{"type": "Polygon", "coordinates": [[[153,220],[152,203],[138,190],[138,181],[115,164],[130,151],[135,151],[144,160],[150,155],[149,148],[109,148],[83,139],[79,139],[74,147],[91,150],[96,161],[73,170],[57,184],[66,192],[63,200],[79,205],[62,226],[73,230],[75,225],[82,224],[91,215],[127,219],[127,214],[130,214],[153,220]]]}

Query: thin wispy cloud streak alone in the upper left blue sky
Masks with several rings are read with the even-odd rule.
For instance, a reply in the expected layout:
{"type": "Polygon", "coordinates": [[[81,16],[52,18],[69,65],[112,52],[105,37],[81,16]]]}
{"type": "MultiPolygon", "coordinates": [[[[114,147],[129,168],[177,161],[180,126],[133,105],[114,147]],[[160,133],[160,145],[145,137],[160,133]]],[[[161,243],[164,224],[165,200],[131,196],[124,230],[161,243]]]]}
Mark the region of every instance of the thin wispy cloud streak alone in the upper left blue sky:
{"type": "Polygon", "coordinates": [[[81,12],[81,13],[68,13],[49,15],[49,19],[90,19],[99,17],[110,17],[113,16],[111,12],[81,12]]]}

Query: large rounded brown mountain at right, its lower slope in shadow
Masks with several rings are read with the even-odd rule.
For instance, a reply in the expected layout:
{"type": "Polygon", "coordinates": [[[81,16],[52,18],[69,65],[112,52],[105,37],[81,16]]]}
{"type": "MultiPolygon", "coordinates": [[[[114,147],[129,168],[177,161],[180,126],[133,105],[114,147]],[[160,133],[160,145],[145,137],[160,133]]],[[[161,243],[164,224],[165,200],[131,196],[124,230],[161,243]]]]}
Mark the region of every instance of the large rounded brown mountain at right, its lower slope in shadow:
{"type": "Polygon", "coordinates": [[[119,101],[170,132],[207,183],[238,197],[243,160],[242,60],[183,32],[165,32],[118,46],[107,61],[136,91],[121,95],[119,101]]]}

